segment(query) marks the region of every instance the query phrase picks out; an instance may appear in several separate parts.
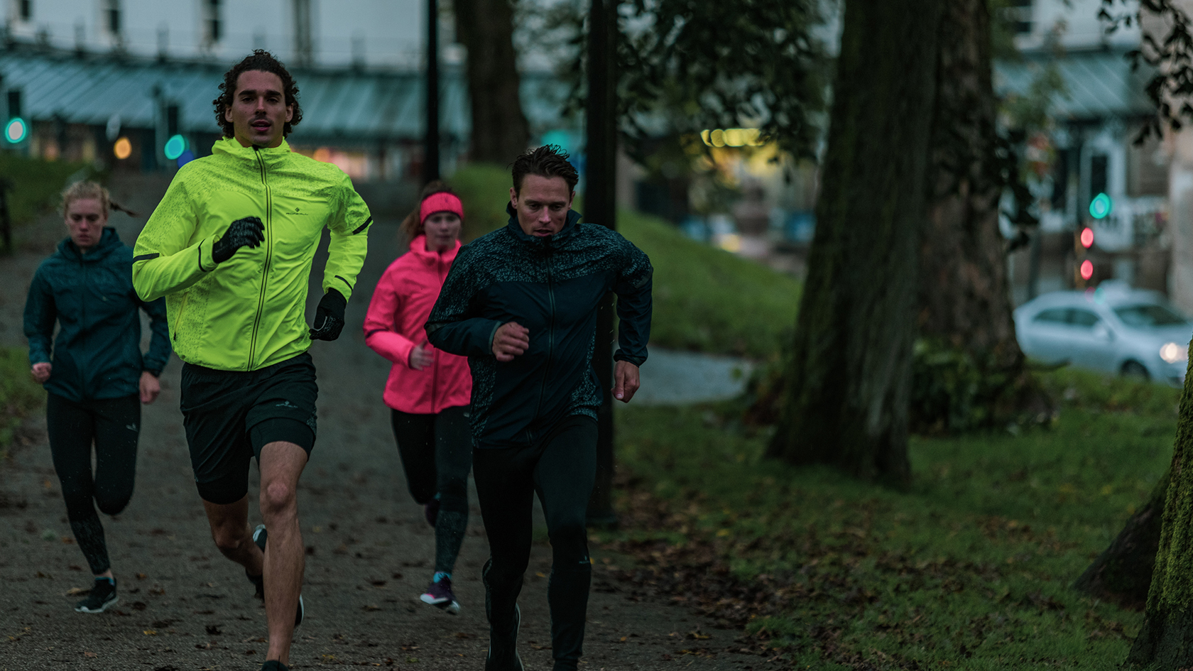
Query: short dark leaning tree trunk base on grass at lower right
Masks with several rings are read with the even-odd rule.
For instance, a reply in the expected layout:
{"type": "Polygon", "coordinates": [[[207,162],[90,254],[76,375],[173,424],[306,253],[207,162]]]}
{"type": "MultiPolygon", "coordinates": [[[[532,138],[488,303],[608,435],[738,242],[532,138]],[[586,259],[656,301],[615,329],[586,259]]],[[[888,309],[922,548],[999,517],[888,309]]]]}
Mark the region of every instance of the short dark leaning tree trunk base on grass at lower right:
{"type": "Polygon", "coordinates": [[[1073,587],[1092,597],[1117,603],[1120,608],[1142,610],[1151,586],[1160,547],[1161,519],[1168,495],[1169,474],[1166,473],[1146,505],[1139,509],[1118,537],[1086,568],[1073,587]]]}

